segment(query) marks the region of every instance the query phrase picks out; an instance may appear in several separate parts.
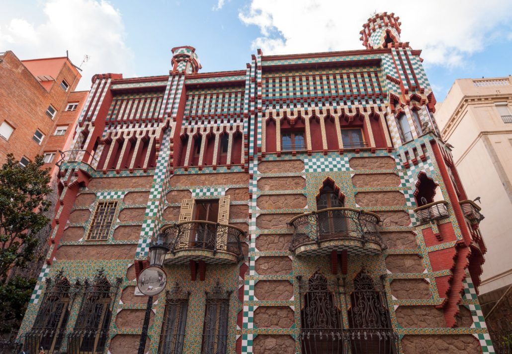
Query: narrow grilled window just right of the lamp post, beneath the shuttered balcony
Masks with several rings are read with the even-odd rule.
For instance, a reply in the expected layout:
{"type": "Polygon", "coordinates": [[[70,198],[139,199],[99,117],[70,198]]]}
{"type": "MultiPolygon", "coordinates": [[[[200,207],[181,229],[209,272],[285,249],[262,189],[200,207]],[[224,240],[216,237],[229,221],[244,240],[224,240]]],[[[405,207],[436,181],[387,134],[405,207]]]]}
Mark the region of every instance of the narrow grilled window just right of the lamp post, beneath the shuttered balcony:
{"type": "Polygon", "coordinates": [[[182,292],[179,283],[165,297],[165,314],[160,333],[159,354],[181,354],[185,338],[189,293],[182,292]]]}

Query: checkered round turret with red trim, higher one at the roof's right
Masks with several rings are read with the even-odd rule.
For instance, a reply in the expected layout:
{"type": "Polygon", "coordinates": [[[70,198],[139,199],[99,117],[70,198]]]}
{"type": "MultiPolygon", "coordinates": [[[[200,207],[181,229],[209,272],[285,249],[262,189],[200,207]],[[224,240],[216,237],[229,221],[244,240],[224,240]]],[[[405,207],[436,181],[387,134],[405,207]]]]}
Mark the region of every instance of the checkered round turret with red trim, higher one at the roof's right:
{"type": "Polygon", "coordinates": [[[381,12],[370,17],[362,25],[362,45],[366,49],[387,48],[388,45],[400,42],[400,17],[392,13],[381,12]]]}

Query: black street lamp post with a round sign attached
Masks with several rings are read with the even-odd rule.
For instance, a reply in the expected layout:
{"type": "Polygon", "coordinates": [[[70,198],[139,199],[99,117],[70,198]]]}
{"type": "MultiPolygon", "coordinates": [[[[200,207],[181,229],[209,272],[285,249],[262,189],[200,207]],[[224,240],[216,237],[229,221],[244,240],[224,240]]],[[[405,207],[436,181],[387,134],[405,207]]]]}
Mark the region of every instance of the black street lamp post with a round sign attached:
{"type": "Polygon", "coordinates": [[[139,350],[137,354],[144,354],[147,339],[147,327],[150,325],[151,307],[153,306],[153,296],[158,295],[165,289],[167,275],[163,270],[163,260],[165,254],[169,251],[166,235],[160,233],[157,239],[150,245],[150,266],[144,268],[137,278],[137,286],[142,294],[147,295],[146,313],[144,315],[144,324],[140,334],[139,350]]]}

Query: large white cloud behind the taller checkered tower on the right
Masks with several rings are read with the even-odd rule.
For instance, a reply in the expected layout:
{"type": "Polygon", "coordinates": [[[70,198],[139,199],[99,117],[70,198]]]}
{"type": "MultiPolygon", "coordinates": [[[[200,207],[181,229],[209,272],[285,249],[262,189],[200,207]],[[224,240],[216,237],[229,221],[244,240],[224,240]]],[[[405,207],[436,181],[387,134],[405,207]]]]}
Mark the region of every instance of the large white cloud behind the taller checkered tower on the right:
{"type": "MultiPolygon", "coordinates": [[[[484,49],[497,27],[510,25],[509,0],[431,0],[423,6],[410,1],[251,0],[239,13],[247,25],[260,28],[253,49],[264,54],[289,54],[361,49],[359,31],[375,11],[400,16],[401,40],[422,49],[426,63],[454,67],[484,49]]],[[[505,36],[501,36],[504,40],[505,36]]],[[[500,40],[498,39],[498,40],[500,40]]]]}

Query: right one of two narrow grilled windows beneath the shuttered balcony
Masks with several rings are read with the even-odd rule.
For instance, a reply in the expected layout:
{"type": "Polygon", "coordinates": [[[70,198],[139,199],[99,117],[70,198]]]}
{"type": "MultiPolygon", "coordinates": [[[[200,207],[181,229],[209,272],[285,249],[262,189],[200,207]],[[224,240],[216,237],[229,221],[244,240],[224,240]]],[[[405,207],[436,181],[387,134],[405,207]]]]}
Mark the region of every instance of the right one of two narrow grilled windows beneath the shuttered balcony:
{"type": "Polygon", "coordinates": [[[227,348],[229,292],[224,292],[217,281],[211,293],[206,294],[201,354],[224,354],[227,348]]]}

